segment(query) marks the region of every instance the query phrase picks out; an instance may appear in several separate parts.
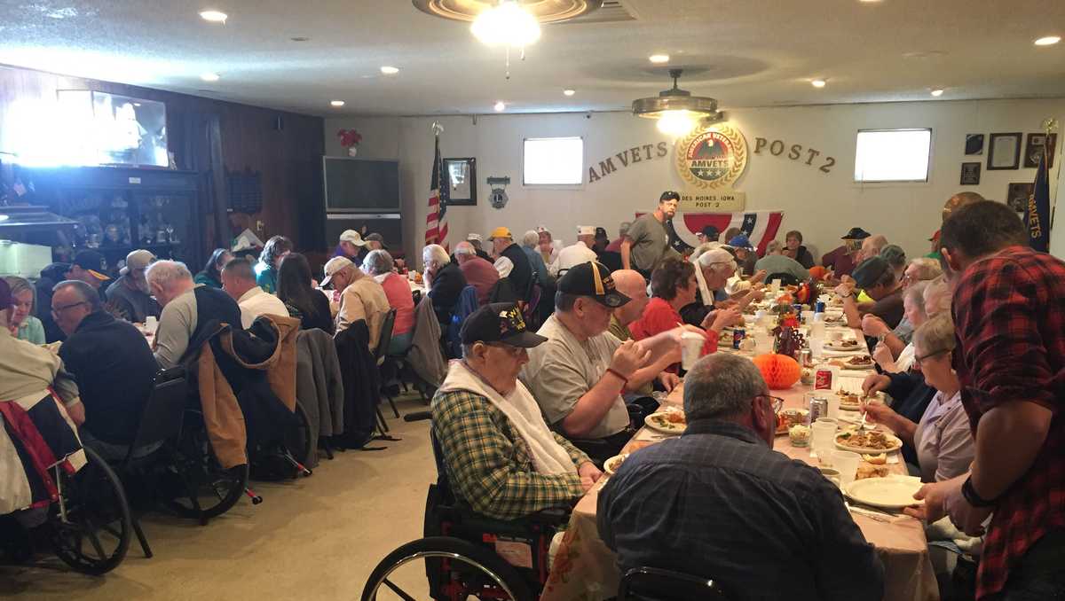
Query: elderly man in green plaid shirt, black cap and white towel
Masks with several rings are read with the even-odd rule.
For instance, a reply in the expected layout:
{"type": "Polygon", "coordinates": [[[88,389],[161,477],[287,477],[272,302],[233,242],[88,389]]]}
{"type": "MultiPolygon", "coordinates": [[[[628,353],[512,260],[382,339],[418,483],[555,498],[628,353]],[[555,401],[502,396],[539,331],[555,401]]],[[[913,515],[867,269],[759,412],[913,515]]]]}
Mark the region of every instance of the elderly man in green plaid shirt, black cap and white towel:
{"type": "Polygon", "coordinates": [[[518,381],[526,349],[546,338],[526,331],[513,303],[477,310],[460,336],[463,358],[452,362],[432,398],[432,428],[454,493],[497,519],[571,505],[602,472],[547,428],[518,381]]]}

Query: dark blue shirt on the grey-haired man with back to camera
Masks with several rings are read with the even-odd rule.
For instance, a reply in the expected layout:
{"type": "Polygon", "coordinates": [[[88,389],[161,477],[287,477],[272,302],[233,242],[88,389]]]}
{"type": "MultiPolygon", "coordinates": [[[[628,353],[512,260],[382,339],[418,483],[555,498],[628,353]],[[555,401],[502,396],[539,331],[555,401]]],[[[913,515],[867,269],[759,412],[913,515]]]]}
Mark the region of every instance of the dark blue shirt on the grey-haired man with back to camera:
{"type": "Polygon", "coordinates": [[[879,600],[884,569],[831,482],[737,423],[695,420],[634,453],[599,496],[622,571],[714,579],[730,599],[879,600]]]}

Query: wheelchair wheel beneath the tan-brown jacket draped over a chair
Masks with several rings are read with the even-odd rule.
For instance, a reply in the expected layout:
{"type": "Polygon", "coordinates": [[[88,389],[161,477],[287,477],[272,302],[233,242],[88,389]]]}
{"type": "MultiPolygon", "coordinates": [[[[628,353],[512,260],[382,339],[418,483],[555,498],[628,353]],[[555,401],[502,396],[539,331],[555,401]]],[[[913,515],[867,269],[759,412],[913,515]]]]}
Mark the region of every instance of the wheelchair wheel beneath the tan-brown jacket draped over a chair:
{"type": "Polygon", "coordinates": [[[186,428],[173,453],[171,469],[180,481],[165,500],[181,517],[204,521],[229,511],[248,485],[247,464],[222,467],[202,423],[186,428]]]}

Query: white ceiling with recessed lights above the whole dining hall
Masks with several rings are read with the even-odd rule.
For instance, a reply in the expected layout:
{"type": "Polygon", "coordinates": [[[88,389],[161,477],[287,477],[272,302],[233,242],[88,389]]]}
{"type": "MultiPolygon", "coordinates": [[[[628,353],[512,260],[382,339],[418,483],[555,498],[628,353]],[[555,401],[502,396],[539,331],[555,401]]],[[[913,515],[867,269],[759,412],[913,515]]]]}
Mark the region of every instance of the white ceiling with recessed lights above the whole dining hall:
{"type": "Polygon", "coordinates": [[[1063,0],[622,3],[635,20],[544,27],[509,81],[503,50],[410,0],[0,0],[0,63],[316,115],[627,110],[669,87],[656,52],[724,108],[1065,96],[1065,43],[1032,44],[1065,36],[1063,0]]]}

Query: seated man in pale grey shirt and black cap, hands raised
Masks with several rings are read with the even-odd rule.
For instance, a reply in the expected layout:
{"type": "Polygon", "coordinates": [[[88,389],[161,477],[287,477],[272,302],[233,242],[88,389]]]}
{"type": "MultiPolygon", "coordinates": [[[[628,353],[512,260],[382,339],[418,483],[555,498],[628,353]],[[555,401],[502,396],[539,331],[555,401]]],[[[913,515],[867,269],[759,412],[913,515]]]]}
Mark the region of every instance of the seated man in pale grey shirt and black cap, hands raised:
{"type": "Polygon", "coordinates": [[[613,310],[627,302],[605,265],[569,269],[558,281],[556,312],[538,332],[547,341],[529,349],[521,373],[550,425],[570,439],[604,443],[589,452],[600,463],[633,435],[622,395],[659,378],[663,355],[679,361],[679,328],[639,343],[622,343],[607,331],[613,310]]]}

